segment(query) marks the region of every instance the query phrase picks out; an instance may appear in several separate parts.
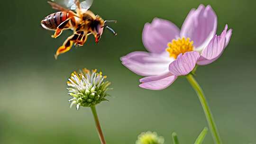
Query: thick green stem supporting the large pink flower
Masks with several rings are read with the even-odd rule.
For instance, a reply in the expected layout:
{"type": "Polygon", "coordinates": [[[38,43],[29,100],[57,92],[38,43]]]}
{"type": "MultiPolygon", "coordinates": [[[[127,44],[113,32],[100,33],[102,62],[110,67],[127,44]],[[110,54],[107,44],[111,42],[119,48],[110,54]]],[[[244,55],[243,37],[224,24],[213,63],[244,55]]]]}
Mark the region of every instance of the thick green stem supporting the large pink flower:
{"type": "Polygon", "coordinates": [[[219,133],[217,130],[217,126],[214,122],[213,116],[210,112],[210,107],[207,103],[207,100],[205,99],[205,96],[203,94],[203,90],[201,89],[200,85],[197,83],[197,81],[194,79],[192,74],[188,74],[186,76],[187,80],[190,82],[190,84],[192,85],[193,89],[196,91],[198,98],[200,99],[205,117],[207,119],[208,125],[210,127],[210,131],[211,131],[211,135],[215,141],[215,144],[222,144],[220,137],[219,137],[219,133]]]}

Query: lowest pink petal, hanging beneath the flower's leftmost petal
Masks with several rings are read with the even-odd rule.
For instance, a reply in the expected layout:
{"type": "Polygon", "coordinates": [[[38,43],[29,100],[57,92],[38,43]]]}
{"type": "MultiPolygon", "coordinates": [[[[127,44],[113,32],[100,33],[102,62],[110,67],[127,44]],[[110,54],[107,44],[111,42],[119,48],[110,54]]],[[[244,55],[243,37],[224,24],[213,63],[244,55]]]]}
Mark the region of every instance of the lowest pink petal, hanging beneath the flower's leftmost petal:
{"type": "Polygon", "coordinates": [[[163,90],[171,85],[178,76],[175,76],[171,73],[166,73],[159,76],[149,76],[143,79],[140,79],[140,82],[143,82],[139,87],[148,89],[148,90],[163,90]]]}

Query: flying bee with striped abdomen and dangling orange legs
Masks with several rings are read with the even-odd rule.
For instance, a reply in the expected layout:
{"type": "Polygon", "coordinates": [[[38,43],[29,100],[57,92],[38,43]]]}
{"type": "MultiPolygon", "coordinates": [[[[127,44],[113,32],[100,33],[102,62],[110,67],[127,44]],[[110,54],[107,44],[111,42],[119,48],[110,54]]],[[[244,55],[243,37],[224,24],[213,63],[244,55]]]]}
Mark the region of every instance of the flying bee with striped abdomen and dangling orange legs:
{"type": "Polygon", "coordinates": [[[79,0],[61,1],[64,7],[54,1],[48,1],[53,9],[59,11],[48,15],[41,21],[42,27],[47,30],[55,31],[54,35],[52,35],[53,38],[60,36],[63,30],[73,30],[73,35],[69,36],[56,51],[55,58],[57,58],[59,54],[69,51],[73,44],[75,46],[84,45],[89,35],[95,37],[95,43],[97,44],[104,28],[110,30],[115,36],[117,35],[112,28],[106,25],[109,22],[116,23],[116,20],[103,20],[99,15],[94,15],[93,12],[88,10],[93,0],[86,0],[81,3],[79,0]]]}

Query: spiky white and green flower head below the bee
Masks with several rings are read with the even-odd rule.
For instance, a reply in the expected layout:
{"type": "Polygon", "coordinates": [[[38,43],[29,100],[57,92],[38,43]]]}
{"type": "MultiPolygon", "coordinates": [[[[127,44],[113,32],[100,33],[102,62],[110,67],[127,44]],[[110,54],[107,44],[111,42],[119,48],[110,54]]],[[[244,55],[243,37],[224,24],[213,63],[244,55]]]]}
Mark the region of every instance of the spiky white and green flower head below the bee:
{"type": "Polygon", "coordinates": [[[73,97],[69,99],[70,107],[76,105],[79,109],[80,106],[91,107],[101,101],[108,101],[105,97],[108,96],[106,91],[109,90],[110,82],[104,81],[106,78],[102,72],[90,71],[86,68],[80,70],[79,73],[72,72],[67,82],[68,94],[73,97]]]}

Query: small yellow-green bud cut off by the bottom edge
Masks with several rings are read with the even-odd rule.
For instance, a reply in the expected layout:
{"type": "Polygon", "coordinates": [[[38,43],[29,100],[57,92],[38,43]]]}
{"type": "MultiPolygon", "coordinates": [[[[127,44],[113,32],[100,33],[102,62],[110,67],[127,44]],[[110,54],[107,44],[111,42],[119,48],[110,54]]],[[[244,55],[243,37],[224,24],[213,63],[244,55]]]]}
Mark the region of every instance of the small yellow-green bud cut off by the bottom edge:
{"type": "Polygon", "coordinates": [[[155,132],[147,131],[138,135],[136,144],[164,144],[165,139],[163,136],[158,136],[155,132]]]}

